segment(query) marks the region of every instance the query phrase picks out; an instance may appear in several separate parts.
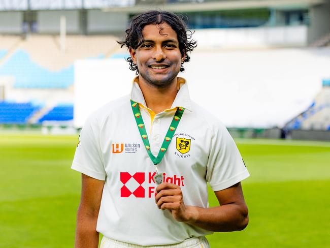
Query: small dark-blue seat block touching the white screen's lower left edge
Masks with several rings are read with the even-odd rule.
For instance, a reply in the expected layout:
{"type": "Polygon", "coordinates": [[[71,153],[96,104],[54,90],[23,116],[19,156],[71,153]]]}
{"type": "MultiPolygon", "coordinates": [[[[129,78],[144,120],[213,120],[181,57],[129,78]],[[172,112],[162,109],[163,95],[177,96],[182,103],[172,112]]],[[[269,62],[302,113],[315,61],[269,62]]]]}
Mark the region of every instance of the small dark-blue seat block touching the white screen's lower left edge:
{"type": "Polygon", "coordinates": [[[65,121],[73,119],[73,104],[61,104],[57,105],[53,109],[51,109],[47,114],[45,114],[41,119],[39,119],[39,123],[43,121],[65,121]]]}

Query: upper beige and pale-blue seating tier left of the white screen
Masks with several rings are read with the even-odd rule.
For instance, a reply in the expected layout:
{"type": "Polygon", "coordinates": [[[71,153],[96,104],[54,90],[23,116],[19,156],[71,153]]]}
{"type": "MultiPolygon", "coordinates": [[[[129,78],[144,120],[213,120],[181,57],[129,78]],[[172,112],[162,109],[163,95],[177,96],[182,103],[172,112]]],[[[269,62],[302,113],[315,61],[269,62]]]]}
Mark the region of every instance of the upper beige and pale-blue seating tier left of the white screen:
{"type": "Polygon", "coordinates": [[[14,76],[15,88],[68,88],[77,59],[109,57],[119,47],[113,36],[68,36],[64,51],[57,36],[0,38],[0,59],[8,53],[0,60],[0,76],[14,76]]]}

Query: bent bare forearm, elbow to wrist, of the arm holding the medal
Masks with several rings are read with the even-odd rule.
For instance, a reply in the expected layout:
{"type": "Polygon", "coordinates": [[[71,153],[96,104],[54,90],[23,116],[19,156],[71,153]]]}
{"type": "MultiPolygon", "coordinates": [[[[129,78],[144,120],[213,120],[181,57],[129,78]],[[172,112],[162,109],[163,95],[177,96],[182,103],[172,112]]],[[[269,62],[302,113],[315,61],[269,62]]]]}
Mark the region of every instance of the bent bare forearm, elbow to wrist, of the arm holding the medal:
{"type": "Polygon", "coordinates": [[[186,211],[186,223],[214,232],[243,230],[249,222],[246,205],[235,203],[211,208],[186,206],[186,211]]]}

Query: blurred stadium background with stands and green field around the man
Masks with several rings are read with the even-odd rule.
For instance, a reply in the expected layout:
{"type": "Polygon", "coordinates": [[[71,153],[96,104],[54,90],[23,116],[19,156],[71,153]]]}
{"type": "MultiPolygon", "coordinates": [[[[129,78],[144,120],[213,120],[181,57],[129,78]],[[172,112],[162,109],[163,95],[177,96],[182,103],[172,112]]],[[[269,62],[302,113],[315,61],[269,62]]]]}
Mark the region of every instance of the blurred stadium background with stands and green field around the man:
{"type": "Polygon", "coordinates": [[[212,247],[327,247],[330,0],[0,0],[0,247],[73,247],[79,131],[129,94],[117,41],[154,9],[194,32],[180,76],[252,175],[250,225],[212,247]]]}

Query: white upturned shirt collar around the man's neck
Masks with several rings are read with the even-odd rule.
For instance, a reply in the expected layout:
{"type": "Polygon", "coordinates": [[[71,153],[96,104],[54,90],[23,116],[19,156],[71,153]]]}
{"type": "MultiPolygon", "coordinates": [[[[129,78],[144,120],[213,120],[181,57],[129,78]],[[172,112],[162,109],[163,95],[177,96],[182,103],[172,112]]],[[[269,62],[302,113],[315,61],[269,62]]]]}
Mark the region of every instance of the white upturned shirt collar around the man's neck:
{"type": "MultiPolygon", "coordinates": [[[[178,94],[173,101],[171,109],[176,107],[183,107],[189,111],[192,111],[189,90],[186,80],[184,78],[178,77],[177,87],[178,87],[178,94]]],[[[147,106],[142,91],[139,87],[139,76],[136,76],[133,80],[133,85],[130,92],[130,99],[134,102],[142,104],[145,107],[147,106]]]]}

